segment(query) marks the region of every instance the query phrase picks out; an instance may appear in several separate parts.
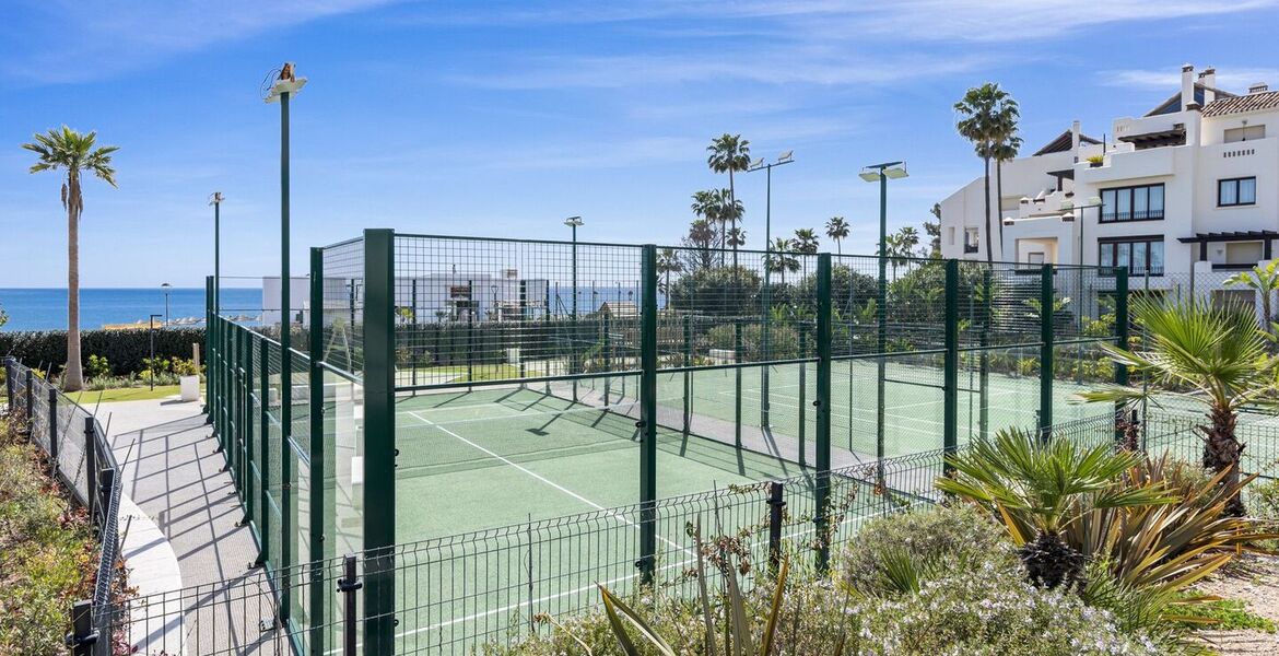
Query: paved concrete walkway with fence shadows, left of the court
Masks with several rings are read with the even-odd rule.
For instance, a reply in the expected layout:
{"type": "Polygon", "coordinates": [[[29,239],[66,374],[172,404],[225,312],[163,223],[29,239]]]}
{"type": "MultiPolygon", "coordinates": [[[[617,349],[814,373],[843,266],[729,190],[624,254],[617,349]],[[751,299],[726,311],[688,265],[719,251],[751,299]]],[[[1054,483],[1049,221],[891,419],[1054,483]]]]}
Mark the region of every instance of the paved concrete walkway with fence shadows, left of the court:
{"type": "MultiPolygon", "coordinates": [[[[262,568],[253,566],[257,545],[240,526],[235,487],[201,410],[200,403],[177,399],[97,408],[123,469],[124,495],[159,528],[160,536],[141,542],[157,554],[164,546],[153,542],[166,540],[180,572],[182,590],[133,604],[130,642],[142,653],[286,653],[275,629],[275,595],[262,568]]],[[[139,542],[125,541],[127,551],[139,542]]],[[[128,566],[142,595],[164,583],[164,568],[146,558],[128,566]]]]}

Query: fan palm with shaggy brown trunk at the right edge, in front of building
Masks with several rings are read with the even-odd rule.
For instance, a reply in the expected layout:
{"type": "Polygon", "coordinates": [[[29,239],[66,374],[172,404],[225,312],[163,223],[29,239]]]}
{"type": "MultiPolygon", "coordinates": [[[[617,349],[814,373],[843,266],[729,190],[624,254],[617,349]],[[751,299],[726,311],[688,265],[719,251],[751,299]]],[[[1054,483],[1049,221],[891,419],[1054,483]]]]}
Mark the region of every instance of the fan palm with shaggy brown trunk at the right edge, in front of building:
{"type": "MultiPolygon", "coordinates": [[[[1141,400],[1191,402],[1206,408],[1204,467],[1229,472],[1225,485],[1239,481],[1239,444],[1234,428],[1246,407],[1279,409],[1279,355],[1270,353],[1269,336],[1257,330],[1252,308],[1212,307],[1200,301],[1161,302],[1138,298],[1133,317],[1142,324],[1149,347],[1128,350],[1101,348],[1110,359],[1142,375],[1149,389],[1110,386],[1079,394],[1078,400],[1133,404],[1141,400]]],[[[1238,496],[1228,512],[1244,513],[1238,496]]]]}

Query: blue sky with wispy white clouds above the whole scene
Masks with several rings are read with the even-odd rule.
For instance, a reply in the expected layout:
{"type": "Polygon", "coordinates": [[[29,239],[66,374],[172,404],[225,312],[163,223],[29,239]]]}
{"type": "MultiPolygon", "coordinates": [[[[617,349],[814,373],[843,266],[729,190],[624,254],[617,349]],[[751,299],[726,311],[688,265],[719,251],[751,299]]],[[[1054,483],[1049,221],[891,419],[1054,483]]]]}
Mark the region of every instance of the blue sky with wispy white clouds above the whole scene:
{"type": "MultiPolygon", "coordinates": [[[[263,75],[292,60],[293,260],[363,228],[674,243],[689,194],[726,185],[724,132],[775,170],[774,233],[845,216],[870,252],[865,164],[904,159],[890,228],[981,171],[952,105],[1001,83],[1030,152],[1069,127],[1101,137],[1173,93],[1183,63],[1219,86],[1279,83],[1279,3],[6,1],[0,22],[0,288],[65,284],[59,179],[18,146],[98,130],[119,189],[86,185],[82,285],[197,286],[278,272],[279,110],[263,75]],[[875,6],[868,6],[875,5],[875,6]]],[[[752,247],[764,176],[738,178],[752,247]]],[[[834,246],[830,244],[830,249],[834,246]]]]}

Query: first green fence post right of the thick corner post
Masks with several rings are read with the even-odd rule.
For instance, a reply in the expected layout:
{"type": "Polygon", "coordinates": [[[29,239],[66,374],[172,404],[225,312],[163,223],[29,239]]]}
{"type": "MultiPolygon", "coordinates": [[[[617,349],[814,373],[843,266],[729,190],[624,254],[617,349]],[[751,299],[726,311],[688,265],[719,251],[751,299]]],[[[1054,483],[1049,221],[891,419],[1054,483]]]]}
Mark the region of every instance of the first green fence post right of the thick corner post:
{"type": "Polygon", "coordinates": [[[657,247],[645,244],[640,309],[640,578],[657,564],[657,247]]]}

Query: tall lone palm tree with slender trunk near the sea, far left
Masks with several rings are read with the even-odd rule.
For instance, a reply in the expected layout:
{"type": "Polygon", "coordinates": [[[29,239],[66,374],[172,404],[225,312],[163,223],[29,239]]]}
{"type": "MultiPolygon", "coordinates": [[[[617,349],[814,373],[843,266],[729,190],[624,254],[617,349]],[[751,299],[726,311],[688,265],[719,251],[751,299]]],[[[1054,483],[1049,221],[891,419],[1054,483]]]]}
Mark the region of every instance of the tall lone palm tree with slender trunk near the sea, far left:
{"type": "Polygon", "coordinates": [[[84,386],[79,349],[79,217],[84,212],[81,174],[90,173],[115,187],[111,153],[120,148],[98,147],[96,132],[81,134],[67,125],[33,138],[35,143],[22,144],[40,160],[31,166],[31,173],[67,171],[63,180],[63,208],[67,210],[67,370],[63,372],[63,389],[77,391],[84,386]]]}

